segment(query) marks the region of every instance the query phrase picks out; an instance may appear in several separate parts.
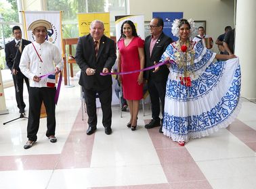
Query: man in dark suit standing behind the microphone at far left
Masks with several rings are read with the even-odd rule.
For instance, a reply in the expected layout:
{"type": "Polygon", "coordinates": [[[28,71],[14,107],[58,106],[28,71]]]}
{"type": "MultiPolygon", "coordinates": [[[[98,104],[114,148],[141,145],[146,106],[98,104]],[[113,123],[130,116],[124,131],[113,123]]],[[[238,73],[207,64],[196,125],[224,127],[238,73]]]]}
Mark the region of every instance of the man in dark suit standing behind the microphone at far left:
{"type": "Polygon", "coordinates": [[[25,80],[26,86],[29,88],[29,82],[28,78],[20,72],[19,65],[24,47],[31,42],[22,38],[22,31],[19,26],[12,28],[12,34],[14,35],[14,40],[5,45],[5,60],[8,68],[12,71],[17,106],[20,109],[20,113],[24,113],[26,105],[23,101],[23,83],[25,80]]]}

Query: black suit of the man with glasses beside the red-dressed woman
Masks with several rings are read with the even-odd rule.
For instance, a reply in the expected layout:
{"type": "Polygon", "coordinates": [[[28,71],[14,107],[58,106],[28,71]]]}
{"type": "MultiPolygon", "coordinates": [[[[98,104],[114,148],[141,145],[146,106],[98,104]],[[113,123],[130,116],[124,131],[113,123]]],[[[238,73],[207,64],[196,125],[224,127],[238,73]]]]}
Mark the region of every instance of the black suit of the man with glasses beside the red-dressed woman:
{"type": "MultiPolygon", "coordinates": [[[[145,39],[144,51],[146,56],[146,68],[154,65],[154,61],[157,63],[160,61],[161,56],[165,52],[165,49],[172,42],[172,39],[165,35],[163,32],[158,37],[154,48],[152,49],[152,54],[150,56],[150,41],[152,36],[147,36],[145,39]]],[[[165,90],[166,83],[169,74],[169,69],[166,65],[160,67],[158,72],[152,72],[154,70],[148,70],[144,73],[144,78],[148,80],[148,92],[150,93],[150,100],[152,104],[152,118],[159,120],[160,114],[160,101],[162,103],[162,114],[164,113],[165,106],[165,90]]]]}

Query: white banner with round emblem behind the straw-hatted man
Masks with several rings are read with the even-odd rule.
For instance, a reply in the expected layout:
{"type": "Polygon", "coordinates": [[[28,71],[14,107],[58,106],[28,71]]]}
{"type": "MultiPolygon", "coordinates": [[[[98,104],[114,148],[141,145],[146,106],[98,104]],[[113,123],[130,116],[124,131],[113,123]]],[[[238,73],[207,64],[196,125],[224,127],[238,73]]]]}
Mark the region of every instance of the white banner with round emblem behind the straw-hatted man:
{"type": "Polygon", "coordinates": [[[36,20],[47,20],[51,23],[52,29],[48,30],[46,40],[56,45],[62,52],[62,20],[61,11],[23,11],[24,33],[29,41],[35,41],[32,31],[28,31],[28,26],[36,20]]]}

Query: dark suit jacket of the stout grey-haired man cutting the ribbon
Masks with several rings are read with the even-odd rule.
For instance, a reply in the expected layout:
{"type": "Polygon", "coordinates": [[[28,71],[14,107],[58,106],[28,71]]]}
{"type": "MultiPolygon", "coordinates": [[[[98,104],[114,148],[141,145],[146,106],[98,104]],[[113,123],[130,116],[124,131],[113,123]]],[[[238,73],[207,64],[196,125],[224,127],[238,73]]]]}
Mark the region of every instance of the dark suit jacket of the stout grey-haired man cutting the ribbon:
{"type": "Polygon", "coordinates": [[[93,38],[90,34],[79,37],[77,43],[77,52],[75,59],[79,68],[81,68],[81,76],[79,84],[88,90],[104,90],[112,85],[112,77],[100,76],[103,68],[111,71],[114,61],[116,60],[116,52],[114,41],[103,35],[100,39],[100,47],[97,59],[95,57],[93,38]],[[96,73],[93,76],[87,76],[87,68],[93,68],[96,73]]]}

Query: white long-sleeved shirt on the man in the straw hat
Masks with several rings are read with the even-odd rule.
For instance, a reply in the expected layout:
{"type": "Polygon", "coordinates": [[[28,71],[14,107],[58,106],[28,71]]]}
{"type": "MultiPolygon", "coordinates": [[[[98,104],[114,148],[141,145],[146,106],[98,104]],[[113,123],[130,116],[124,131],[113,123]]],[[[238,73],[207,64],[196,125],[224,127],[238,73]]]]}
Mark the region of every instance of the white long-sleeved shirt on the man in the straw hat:
{"type": "Polygon", "coordinates": [[[20,58],[20,70],[24,76],[30,79],[31,87],[47,87],[47,78],[34,82],[34,76],[43,76],[45,74],[53,73],[55,67],[60,70],[63,68],[63,59],[58,47],[45,41],[42,44],[33,42],[35,45],[35,51],[32,43],[26,45],[20,58]],[[37,53],[41,57],[39,59],[37,53]]]}

